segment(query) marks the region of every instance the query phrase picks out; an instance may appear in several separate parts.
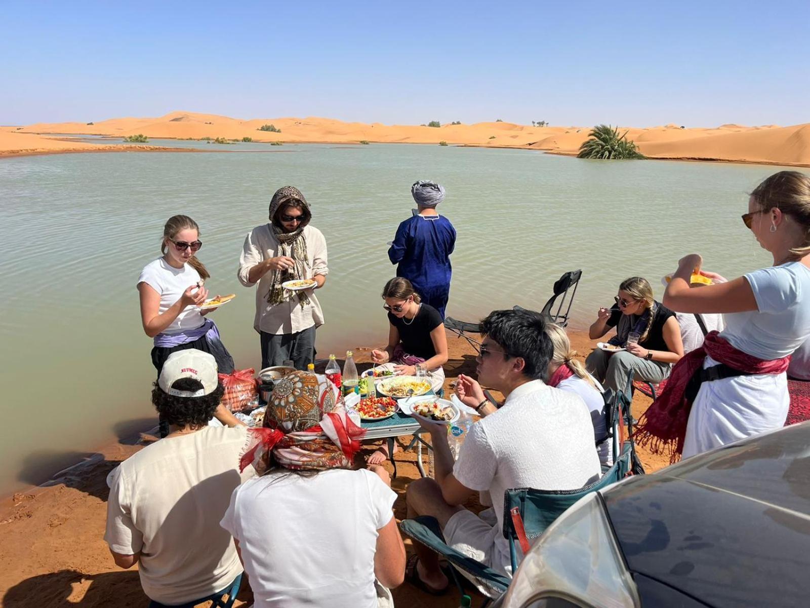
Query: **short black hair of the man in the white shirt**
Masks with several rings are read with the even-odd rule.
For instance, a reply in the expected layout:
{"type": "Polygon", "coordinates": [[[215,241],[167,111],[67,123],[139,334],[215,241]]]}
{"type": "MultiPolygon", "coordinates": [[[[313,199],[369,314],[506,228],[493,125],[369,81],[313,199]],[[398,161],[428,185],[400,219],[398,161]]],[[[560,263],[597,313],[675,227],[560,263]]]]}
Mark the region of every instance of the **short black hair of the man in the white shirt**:
{"type": "Polygon", "coordinates": [[[554,345],[546,334],[543,315],[535,310],[492,310],[481,321],[480,332],[504,351],[504,358],[523,359],[523,375],[546,379],[554,345]]]}

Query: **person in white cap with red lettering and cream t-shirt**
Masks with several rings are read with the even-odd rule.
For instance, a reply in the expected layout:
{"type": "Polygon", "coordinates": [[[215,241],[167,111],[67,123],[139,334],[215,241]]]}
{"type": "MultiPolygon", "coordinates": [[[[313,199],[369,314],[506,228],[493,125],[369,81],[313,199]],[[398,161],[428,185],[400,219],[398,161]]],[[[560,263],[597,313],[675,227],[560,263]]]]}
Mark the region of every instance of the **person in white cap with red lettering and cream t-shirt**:
{"type": "Polygon", "coordinates": [[[223,393],[211,354],[170,354],[152,403],[171,432],[107,478],[104,540],[118,566],[139,564],[151,606],[177,606],[238,588],[241,563],[219,523],[232,491],[251,474],[239,472],[246,427],[207,426],[223,393]]]}

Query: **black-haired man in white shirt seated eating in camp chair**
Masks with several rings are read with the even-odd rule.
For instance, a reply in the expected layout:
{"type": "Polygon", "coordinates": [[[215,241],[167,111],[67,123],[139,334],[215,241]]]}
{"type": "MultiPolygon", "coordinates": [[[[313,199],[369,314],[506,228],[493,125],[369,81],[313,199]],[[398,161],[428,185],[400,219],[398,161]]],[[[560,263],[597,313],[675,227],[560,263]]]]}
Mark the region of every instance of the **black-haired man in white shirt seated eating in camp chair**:
{"type": "MultiPolygon", "coordinates": [[[[435,517],[448,545],[512,576],[501,532],[505,490],[575,490],[598,479],[601,469],[585,402],[543,382],[553,347],[542,316],[495,310],[480,328],[476,373],[480,383],[503,393],[505,403],[471,426],[455,463],[447,427],[420,419],[431,435],[436,478],[411,482],[407,516],[435,517]],[[479,492],[482,503],[492,505],[480,516],[462,506],[479,492]]],[[[481,392],[478,383],[475,391],[481,392]]],[[[481,392],[482,407],[484,402],[481,392]]],[[[428,593],[443,593],[449,583],[437,554],[419,543],[414,549],[407,579],[428,593]]]]}

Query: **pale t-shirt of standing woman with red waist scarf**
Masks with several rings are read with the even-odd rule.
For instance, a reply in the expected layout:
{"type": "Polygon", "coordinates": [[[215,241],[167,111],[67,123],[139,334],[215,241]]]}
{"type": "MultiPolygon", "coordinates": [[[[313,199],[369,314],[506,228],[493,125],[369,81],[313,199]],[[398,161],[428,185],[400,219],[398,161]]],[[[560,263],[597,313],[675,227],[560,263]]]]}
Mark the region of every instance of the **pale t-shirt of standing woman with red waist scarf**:
{"type": "Polygon", "coordinates": [[[791,262],[749,272],[745,278],[757,310],[723,315],[721,336],[765,361],[787,357],[810,337],[810,268],[791,262]]]}

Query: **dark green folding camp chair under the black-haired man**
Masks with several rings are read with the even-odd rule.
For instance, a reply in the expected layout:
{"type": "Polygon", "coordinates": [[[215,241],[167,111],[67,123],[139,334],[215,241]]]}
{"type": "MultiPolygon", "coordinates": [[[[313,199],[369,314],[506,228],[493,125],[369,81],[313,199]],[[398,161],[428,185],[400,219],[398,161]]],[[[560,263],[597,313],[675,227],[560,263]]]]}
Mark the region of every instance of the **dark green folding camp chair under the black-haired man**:
{"type": "MultiPolygon", "coordinates": [[[[582,496],[603,490],[612,483],[620,481],[629,470],[630,452],[625,449],[616,462],[607,471],[603,472],[599,480],[588,484],[578,490],[532,490],[531,488],[517,488],[506,490],[504,495],[503,534],[509,540],[509,552],[512,558],[512,572],[518,569],[517,549],[515,543],[521,545],[523,552],[528,550],[528,540],[539,537],[557,517],[582,496]]],[[[434,517],[417,517],[413,520],[403,520],[399,529],[416,542],[435,551],[447,560],[451,568],[458,568],[467,572],[484,588],[489,589],[488,595],[499,597],[509,587],[511,579],[501,572],[484,566],[483,563],[467,557],[467,555],[454,550],[445,542],[439,529],[438,521],[434,517]]],[[[455,577],[455,575],[454,575],[455,577]]],[[[490,598],[486,598],[482,606],[486,606],[490,598]]]]}

